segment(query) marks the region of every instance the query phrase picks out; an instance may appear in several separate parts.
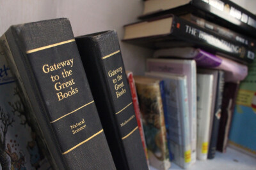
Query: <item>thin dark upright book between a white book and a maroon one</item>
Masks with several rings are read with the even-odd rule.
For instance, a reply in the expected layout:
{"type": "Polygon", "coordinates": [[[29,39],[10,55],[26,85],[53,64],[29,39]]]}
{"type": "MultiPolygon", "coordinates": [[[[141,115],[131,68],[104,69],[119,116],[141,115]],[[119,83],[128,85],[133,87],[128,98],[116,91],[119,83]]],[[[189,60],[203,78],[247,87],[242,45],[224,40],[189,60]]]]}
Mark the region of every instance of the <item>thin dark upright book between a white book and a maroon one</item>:
{"type": "Polygon", "coordinates": [[[207,159],[213,159],[216,152],[216,145],[218,140],[218,132],[221,118],[221,103],[223,96],[223,88],[224,88],[224,72],[218,71],[218,82],[216,88],[216,98],[215,98],[215,106],[214,106],[214,117],[212,122],[212,130],[211,130],[211,138],[209,141],[209,150],[207,159]]]}

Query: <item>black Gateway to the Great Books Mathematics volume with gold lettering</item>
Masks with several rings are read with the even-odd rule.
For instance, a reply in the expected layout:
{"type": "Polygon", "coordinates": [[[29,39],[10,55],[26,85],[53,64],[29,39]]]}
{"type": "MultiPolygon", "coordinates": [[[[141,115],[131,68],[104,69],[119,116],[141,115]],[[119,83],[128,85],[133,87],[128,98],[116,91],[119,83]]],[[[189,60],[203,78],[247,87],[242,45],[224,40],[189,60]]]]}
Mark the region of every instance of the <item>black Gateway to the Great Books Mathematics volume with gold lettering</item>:
{"type": "Polygon", "coordinates": [[[115,31],[76,38],[117,169],[148,169],[115,31]]]}

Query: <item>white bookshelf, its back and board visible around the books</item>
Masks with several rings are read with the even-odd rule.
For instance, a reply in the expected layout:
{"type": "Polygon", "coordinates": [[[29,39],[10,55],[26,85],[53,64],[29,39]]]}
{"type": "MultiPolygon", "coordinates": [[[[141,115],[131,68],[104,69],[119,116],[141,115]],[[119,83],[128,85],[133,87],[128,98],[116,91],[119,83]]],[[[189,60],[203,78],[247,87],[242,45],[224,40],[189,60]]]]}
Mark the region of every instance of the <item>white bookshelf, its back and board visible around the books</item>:
{"type": "MultiPolygon", "coordinates": [[[[235,3],[248,7],[252,12],[256,1],[235,3]]],[[[0,34],[13,24],[33,22],[50,18],[68,17],[75,36],[92,32],[115,29],[119,39],[124,35],[123,25],[136,21],[143,10],[142,0],[107,0],[107,1],[22,1],[0,0],[0,34]]],[[[152,50],[127,43],[120,43],[126,70],[142,75],[145,71],[145,59],[152,56],[152,50]]],[[[217,152],[214,160],[197,161],[191,169],[255,169],[256,159],[228,148],[227,153],[217,152]]],[[[152,168],[153,169],[153,168],[152,168]]],[[[180,169],[172,164],[171,169],[180,169]]]]}

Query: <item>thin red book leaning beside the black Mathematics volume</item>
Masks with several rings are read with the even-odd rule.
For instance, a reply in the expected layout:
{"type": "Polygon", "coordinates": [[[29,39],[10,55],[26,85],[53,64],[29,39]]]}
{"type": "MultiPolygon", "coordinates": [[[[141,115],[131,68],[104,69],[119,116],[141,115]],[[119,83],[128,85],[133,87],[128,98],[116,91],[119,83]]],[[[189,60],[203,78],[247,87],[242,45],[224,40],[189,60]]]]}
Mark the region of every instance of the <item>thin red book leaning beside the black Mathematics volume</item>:
{"type": "Polygon", "coordinates": [[[147,163],[148,163],[148,166],[149,166],[147,145],[146,145],[146,141],[145,141],[145,134],[144,134],[144,131],[143,131],[143,124],[142,124],[142,119],[141,119],[140,106],[139,106],[139,101],[138,101],[138,95],[137,95],[137,92],[136,92],[135,81],[134,81],[134,78],[133,78],[132,71],[126,71],[126,74],[127,74],[127,79],[128,79],[128,82],[129,82],[129,87],[130,87],[130,90],[131,90],[132,104],[133,104],[133,107],[134,107],[134,112],[135,112],[136,120],[137,120],[137,123],[138,123],[138,128],[139,128],[139,131],[140,131],[140,138],[141,138],[141,142],[142,142],[143,149],[144,149],[144,152],[145,152],[145,156],[146,156],[146,159],[147,159],[147,163]]]}

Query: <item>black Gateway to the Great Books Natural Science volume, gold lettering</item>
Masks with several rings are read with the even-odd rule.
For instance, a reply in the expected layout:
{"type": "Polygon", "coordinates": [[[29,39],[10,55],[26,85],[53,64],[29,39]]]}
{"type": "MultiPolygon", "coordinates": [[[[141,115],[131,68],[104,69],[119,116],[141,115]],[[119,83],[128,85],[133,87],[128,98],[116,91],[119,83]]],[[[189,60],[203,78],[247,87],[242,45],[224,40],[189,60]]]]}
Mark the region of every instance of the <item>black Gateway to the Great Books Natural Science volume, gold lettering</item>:
{"type": "Polygon", "coordinates": [[[59,169],[115,169],[67,18],[14,25],[1,44],[59,169]]]}

